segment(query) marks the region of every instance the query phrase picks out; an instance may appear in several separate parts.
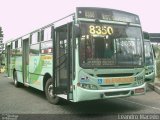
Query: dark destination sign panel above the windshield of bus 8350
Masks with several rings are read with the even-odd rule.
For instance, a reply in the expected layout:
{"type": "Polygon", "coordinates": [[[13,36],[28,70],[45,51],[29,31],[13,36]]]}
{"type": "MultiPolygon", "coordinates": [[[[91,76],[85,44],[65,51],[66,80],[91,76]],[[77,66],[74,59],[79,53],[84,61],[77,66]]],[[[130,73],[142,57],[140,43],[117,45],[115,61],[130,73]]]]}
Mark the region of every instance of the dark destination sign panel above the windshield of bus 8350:
{"type": "Polygon", "coordinates": [[[77,17],[140,24],[139,17],[135,14],[105,8],[78,7],[77,17]]]}

